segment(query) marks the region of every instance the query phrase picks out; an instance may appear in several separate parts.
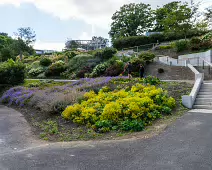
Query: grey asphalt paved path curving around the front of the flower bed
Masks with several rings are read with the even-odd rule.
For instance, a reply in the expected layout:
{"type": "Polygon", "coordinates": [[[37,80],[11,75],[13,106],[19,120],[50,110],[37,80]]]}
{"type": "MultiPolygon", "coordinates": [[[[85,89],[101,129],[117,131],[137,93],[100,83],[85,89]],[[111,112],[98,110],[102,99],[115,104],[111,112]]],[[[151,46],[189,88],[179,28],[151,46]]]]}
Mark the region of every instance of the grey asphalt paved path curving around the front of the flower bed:
{"type": "Polygon", "coordinates": [[[20,113],[0,107],[0,170],[206,170],[212,167],[212,114],[193,110],[159,136],[47,144],[20,113]]]}

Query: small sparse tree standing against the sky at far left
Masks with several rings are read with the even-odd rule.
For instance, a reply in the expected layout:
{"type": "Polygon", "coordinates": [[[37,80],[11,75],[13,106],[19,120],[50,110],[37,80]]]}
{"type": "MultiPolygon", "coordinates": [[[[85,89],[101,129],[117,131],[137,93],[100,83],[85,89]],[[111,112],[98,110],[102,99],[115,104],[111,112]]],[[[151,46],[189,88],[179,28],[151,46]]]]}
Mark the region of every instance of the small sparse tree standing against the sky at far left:
{"type": "Polygon", "coordinates": [[[36,41],[36,34],[30,27],[19,28],[18,32],[15,33],[15,35],[18,38],[22,39],[28,46],[36,41]]]}

